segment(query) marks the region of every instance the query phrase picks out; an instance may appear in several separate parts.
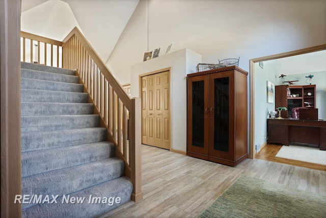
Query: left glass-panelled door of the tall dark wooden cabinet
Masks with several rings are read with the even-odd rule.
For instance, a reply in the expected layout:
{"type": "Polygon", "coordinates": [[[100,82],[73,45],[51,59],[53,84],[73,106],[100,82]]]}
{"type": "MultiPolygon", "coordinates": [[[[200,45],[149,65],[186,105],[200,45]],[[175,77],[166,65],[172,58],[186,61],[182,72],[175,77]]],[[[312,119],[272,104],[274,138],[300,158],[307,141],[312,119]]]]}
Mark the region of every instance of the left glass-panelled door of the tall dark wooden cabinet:
{"type": "Polygon", "coordinates": [[[188,79],[188,152],[208,155],[208,75],[188,79]]]}

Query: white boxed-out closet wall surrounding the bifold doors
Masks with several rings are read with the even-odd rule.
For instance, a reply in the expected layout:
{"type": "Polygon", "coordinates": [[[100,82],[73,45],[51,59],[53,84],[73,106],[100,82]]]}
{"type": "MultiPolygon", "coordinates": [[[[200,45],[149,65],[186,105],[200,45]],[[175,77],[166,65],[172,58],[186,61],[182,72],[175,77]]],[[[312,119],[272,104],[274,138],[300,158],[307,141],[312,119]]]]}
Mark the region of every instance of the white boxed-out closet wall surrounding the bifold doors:
{"type": "Polygon", "coordinates": [[[131,97],[139,98],[140,75],[171,67],[171,148],[186,151],[186,75],[196,72],[201,55],[182,49],[131,66],[131,97]]]}

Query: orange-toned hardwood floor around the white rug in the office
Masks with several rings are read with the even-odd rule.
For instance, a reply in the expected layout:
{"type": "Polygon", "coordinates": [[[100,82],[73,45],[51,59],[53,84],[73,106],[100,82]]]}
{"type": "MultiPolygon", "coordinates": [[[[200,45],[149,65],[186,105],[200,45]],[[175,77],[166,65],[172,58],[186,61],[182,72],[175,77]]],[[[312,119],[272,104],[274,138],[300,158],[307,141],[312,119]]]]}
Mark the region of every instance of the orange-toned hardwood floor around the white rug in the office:
{"type": "Polygon", "coordinates": [[[278,144],[266,144],[266,146],[264,146],[256,154],[255,158],[261,159],[261,160],[279,162],[279,163],[286,163],[286,164],[295,165],[295,166],[302,166],[302,167],[307,167],[307,168],[311,168],[311,169],[318,169],[319,171],[326,171],[326,165],[275,157],[275,155],[280,151],[281,148],[282,148],[282,146],[278,145],[278,144]]]}

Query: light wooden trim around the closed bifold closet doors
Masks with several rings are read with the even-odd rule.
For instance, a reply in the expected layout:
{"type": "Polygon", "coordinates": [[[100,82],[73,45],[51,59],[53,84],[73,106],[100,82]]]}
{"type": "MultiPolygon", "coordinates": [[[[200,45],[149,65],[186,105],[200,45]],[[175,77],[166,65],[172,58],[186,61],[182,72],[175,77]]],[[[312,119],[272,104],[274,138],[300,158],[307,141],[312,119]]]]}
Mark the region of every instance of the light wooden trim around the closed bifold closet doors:
{"type": "MultiPolygon", "coordinates": [[[[146,77],[146,76],[151,76],[151,75],[155,75],[155,74],[160,74],[161,72],[166,72],[169,71],[169,85],[170,85],[170,111],[169,111],[169,116],[170,116],[170,124],[169,124],[169,135],[170,135],[170,144],[169,144],[169,151],[172,151],[173,149],[171,148],[171,144],[172,144],[172,117],[171,117],[171,110],[172,110],[172,101],[171,101],[171,96],[172,96],[172,91],[171,91],[171,84],[172,84],[172,79],[171,79],[171,74],[172,74],[172,67],[167,67],[167,68],[162,68],[162,69],[158,69],[158,70],[154,70],[151,72],[146,72],[145,74],[141,74],[139,75],[139,96],[142,99],[142,77],[146,77]]],[[[142,126],[143,128],[143,126],[142,126]]]]}

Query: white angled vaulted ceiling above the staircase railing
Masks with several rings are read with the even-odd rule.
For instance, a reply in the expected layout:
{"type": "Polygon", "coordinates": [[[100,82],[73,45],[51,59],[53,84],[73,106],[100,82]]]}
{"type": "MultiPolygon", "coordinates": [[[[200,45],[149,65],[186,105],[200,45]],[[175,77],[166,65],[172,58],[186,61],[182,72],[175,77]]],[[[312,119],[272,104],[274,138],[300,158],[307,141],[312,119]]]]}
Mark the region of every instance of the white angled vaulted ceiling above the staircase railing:
{"type": "Polygon", "coordinates": [[[21,30],[62,41],[78,27],[103,61],[139,0],[22,0],[21,30]]]}

